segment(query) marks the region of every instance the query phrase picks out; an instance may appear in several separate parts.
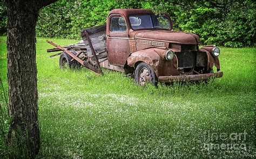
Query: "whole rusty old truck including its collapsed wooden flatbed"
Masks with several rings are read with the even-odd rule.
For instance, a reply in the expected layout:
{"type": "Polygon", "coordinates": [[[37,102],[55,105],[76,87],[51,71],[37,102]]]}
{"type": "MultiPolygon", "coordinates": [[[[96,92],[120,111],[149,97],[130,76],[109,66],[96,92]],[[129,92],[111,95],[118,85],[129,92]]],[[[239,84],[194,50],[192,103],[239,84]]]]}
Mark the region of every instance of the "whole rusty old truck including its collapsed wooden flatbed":
{"type": "Polygon", "coordinates": [[[144,86],[173,81],[199,81],[223,76],[215,45],[199,48],[198,35],[174,31],[167,13],[155,15],[145,9],[114,9],[105,25],[81,31],[83,41],[55,46],[63,50],[60,67],[84,66],[96,74],[102,69],[122,71],[144,86]],[[216,72],[213,73],[213,67],[216,72]]]}

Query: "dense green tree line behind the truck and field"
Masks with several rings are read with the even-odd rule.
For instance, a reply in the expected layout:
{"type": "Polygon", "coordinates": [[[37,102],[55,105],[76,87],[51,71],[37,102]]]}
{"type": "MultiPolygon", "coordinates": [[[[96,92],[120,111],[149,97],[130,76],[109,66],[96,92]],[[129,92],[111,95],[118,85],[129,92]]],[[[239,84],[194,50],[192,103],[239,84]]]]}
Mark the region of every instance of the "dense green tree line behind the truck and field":
{"type": "MultiPolygon", "coordinates": [[[[0,3],[0,33],[6,32],[6,6],[0,3]]],[[[39,12],[37,36],[80,38],[82,28],[106,23],[110,10],[143,8],[167,12],[174,30],[196,33],[202,44],[255,46],[255,2],[247,1],[72,1],[61,0],[39,12]]]]}

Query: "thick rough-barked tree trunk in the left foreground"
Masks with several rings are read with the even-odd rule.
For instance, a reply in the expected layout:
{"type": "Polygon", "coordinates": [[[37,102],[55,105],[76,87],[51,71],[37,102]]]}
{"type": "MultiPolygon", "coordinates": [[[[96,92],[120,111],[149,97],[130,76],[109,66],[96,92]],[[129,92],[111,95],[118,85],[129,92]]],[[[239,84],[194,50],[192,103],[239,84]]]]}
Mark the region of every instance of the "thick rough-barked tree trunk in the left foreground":
{"type": "Polygon", "coordinates": [[[7,50],[9,141],[17,141],[19,153],[38,154],[38,94],[36,67],[36,21],[38,2],[8,0],[7,50]]]}

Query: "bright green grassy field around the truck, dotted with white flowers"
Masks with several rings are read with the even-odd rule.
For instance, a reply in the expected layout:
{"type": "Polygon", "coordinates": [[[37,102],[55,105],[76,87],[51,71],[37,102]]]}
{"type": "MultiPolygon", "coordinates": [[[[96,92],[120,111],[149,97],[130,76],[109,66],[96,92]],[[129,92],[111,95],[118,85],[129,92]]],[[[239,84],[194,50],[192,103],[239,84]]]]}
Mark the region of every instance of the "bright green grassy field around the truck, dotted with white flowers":
{"type": "Polygon", "coordinates": [[[255,157],[255,48],[220,47],[223,78],[156,89],[108,70],[60,70],[45,41],[37,38],[38,157],[255,157]]]}

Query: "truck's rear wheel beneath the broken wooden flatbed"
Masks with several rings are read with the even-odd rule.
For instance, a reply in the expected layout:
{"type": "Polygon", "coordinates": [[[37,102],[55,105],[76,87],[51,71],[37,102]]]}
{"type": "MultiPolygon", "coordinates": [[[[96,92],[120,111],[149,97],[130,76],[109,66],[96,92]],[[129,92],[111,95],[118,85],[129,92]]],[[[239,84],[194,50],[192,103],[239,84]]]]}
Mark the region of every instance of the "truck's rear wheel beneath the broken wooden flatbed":
{"type": "MultiPolygon", "coordinates": [[[[72,54],[76,55],[75,52],[72,52],[72,54]]],[[[62,54],[60,54],[59,56],[59,67],[60,68],[77,68],[77,67],[80,67],[81,64],[76,61],[76,60],[73,60],[71,61],[73,58],[65,53],[65,52],[62,52],[62,54]]]]}

